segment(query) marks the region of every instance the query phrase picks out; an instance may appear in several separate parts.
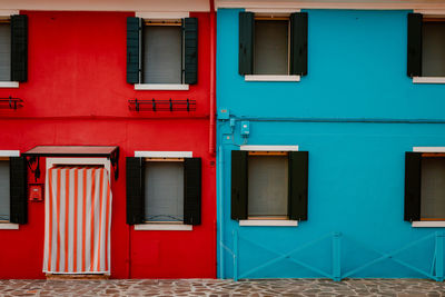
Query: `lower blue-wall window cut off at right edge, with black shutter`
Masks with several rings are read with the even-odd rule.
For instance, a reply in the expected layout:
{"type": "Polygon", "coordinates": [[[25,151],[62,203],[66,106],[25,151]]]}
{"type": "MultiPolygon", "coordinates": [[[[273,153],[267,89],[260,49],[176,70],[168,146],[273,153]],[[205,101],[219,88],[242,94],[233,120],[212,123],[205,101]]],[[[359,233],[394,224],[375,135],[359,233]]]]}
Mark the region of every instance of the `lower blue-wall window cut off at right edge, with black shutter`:
{"type": "Polygon", "coordinates": [[[445,154],[406,152],[405,220],[445,221],[445,154]]]}

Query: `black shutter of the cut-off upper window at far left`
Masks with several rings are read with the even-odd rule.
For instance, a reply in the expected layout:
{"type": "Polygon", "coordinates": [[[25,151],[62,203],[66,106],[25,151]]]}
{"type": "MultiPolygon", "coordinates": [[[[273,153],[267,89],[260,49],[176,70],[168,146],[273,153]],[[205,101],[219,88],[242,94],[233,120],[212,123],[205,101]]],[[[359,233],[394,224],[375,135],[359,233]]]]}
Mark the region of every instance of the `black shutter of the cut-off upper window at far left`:
{"type": "Polygon", "coordinates": [[[11,80],[28,80],[28,16],[11,17],[11,80]]]}

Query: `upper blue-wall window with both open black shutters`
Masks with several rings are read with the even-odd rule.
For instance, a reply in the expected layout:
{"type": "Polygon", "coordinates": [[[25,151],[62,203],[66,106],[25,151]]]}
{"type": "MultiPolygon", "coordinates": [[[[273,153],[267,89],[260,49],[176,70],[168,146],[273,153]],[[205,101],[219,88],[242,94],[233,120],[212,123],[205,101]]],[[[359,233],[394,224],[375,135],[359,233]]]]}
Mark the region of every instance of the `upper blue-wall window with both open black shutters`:
{"type": "Polygon", "coordinates": [[[246,80],[307,75],[307,13],[240,12],[239,73],[246,80]]]}

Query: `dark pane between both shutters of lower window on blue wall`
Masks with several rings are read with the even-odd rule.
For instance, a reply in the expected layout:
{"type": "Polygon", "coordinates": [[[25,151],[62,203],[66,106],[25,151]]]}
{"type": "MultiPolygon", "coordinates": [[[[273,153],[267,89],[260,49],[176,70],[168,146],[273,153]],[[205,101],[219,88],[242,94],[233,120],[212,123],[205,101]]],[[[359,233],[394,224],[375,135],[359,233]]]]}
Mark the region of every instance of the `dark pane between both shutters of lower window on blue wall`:
{"type": "Polygon", "coordinates": [[[287,156],[249,156],[248,216],[287,216],[287,156]]]}

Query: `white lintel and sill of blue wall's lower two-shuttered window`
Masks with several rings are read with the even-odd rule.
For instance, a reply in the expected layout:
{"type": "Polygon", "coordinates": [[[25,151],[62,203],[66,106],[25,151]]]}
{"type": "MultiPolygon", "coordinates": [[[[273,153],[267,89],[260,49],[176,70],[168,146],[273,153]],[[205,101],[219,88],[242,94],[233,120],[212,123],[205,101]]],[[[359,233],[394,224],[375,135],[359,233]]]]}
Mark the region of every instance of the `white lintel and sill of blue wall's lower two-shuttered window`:
{"type": "MultiPolygon", "coordinates": [[[[245,151],[298,151],[298,146],[240,146],[245,151]]],[[[241,219],[240,227],[297,227],[293,219],[241,219]]]]}

